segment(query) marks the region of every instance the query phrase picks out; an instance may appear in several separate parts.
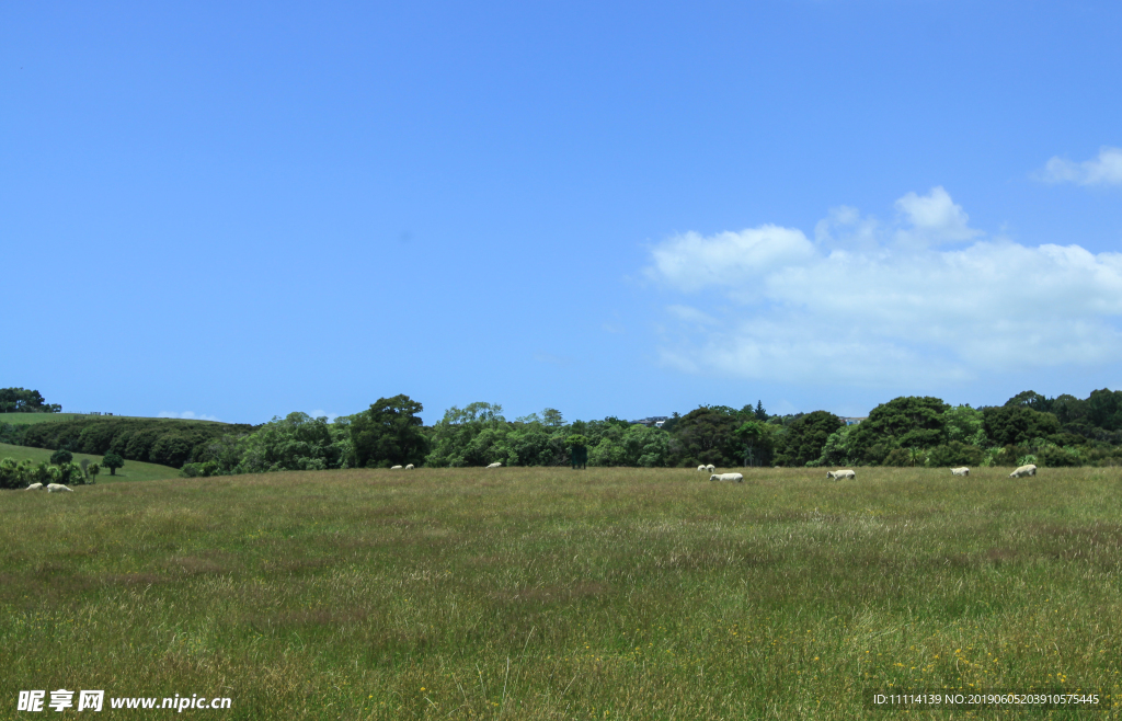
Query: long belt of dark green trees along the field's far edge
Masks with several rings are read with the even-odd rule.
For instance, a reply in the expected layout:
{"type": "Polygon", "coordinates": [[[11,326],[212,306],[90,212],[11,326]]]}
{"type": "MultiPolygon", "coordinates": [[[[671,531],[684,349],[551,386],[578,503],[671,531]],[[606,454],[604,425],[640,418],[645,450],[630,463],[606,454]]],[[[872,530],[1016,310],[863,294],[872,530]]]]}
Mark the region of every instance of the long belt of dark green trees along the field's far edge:
{"type": "Polygon", "coordinates": [[[1115,465],[1122,464],[1122,391],[1048,398],[1024,391],[1002,406],[950,406],[905,396],[854,425],[826,410],[771,415],[701,406],[661,427],[617,417],[567,422],[554,408],[507,419],[497,404],[449,408],[431,426],[408,396],[380,398],[329,423],[293,413],[260,426],[83,417],[4,425],[0,442],[113,454],[208,477],[348,468],[565,465],[571,450],[600,466],[1115,465]]]}

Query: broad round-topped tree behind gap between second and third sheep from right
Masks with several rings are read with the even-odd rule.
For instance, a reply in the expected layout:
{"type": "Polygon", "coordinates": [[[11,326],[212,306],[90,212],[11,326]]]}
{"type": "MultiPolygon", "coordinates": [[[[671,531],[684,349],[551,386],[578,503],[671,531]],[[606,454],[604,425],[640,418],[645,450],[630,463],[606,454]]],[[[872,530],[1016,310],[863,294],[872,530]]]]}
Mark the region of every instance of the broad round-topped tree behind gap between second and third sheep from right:
{"type": "Polygon", "coordinates": [[[870,462],[873,447],[931,449],[946,441],[944,414],[950,408],[930,396],[901,396],[873,408],[854,431],[854,461],[870,462]]]}

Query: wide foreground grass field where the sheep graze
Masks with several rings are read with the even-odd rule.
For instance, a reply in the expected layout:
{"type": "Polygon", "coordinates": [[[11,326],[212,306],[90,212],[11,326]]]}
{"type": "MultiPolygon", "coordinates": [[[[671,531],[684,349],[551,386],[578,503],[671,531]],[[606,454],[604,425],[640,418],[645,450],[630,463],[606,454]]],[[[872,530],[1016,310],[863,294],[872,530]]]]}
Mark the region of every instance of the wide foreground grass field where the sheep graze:
{"type": "Polygon", "coordinates": [[[422,469],[9,491],[0,714],[39,718],[15,711],[18,692],[56,688],[104,690],[108,719],[138,718],[111,696],[197,693],[232,699],[193,712],[208,718],[346,720],[888,719],[863,690],[1115,693],[1122,477],[1008,472],[422,469]]]}

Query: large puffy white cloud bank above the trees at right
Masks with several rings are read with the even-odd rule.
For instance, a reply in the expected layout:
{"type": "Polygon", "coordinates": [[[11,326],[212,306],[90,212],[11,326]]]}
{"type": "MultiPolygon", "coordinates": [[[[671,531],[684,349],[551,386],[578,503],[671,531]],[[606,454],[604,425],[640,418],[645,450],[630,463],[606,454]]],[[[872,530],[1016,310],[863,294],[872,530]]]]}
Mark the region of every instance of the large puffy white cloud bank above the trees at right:
{"type": "Polygon", "coordinates": [[[900,242],[901,233],[934,243],[980,232],[942,188],[896,206],[903,228],[831,211],[817,247],[774,225],[655,247],[647,275],[700,296],[695,305],[711,303],[668,307],[692,324],[663,331],[663,361],[757,380],[934,387],[1122,358],[1122,255],[985,238],[946,250],[900,242]],[[848,240],[838,242],[838,228],[848,240]],[[707,271],[684,272],[691,265],[707,271]]]}

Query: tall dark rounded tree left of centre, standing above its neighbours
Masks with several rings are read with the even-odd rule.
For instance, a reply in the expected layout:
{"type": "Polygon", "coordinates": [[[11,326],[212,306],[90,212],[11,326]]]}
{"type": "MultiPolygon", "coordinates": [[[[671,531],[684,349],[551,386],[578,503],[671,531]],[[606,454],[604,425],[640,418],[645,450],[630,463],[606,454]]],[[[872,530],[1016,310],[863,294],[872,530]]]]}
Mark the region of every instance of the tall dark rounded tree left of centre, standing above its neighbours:
{"type": "MultiPolygon", "coordinates": [[[[429,440],[419,415],[424,406],[406,395],[379,398],[351,416],[350,436],[359,468],[420,465],[429,452],[429,440]]],[[[502,410],[502,408],[499,408],[502,410]]]]}

